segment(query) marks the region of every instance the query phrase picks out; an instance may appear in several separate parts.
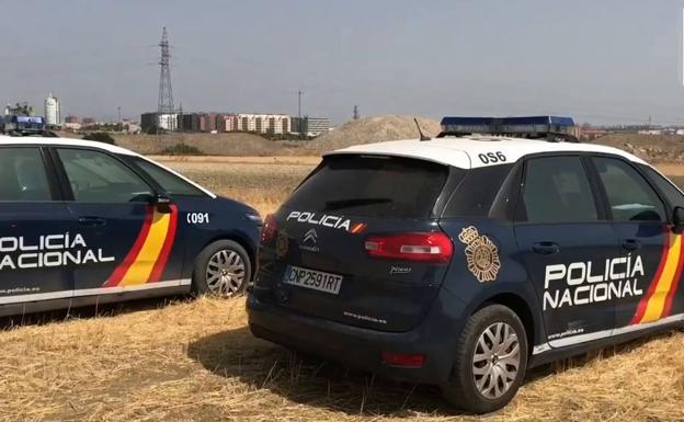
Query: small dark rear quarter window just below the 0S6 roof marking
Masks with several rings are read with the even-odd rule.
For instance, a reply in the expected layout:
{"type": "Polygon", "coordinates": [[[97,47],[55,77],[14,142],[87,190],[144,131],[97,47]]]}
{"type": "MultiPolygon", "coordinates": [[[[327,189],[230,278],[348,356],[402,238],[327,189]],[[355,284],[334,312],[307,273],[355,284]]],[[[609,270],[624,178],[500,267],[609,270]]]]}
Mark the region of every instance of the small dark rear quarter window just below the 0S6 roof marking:
{"type": "Polygon", "coordinates": [[[452,195],[443,217],[487,216],[513,164],[469,170],[452,195]]]}

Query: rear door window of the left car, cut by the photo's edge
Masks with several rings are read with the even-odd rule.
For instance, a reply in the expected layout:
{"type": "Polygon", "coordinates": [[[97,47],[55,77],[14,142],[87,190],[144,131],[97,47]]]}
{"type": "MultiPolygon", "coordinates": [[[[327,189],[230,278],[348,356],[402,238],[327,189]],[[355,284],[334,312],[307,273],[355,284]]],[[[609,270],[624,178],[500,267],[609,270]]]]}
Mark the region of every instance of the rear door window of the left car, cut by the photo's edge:
{"type": "Polygon", "coordinates": [[[0,149],[0,201],[52,201],[38,148],[0,149]]]}

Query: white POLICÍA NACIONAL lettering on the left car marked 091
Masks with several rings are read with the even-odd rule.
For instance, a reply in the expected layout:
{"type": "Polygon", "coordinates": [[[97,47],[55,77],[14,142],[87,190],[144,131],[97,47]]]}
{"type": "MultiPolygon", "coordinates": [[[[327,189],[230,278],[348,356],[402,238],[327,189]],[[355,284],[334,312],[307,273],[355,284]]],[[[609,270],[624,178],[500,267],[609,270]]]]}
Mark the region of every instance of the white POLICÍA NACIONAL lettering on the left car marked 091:
{"type": "Polygon", "coordinates": [[[101,248],[90,249],[81,233],[0,238],[0,270],[41,269],[111,262],[101,248]]]}

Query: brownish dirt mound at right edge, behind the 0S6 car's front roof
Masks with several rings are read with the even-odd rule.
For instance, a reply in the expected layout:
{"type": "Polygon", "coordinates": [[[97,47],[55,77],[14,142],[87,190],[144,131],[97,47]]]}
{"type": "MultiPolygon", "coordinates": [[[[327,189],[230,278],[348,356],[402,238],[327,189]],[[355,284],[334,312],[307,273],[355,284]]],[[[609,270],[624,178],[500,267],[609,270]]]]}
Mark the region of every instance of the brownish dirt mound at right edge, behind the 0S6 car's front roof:
{"type": "Polygon", "coordinates": [[[684,163],[684,136],[681,135],[607,135],[595,144],[623,149],[648,162],[684,163]]]}

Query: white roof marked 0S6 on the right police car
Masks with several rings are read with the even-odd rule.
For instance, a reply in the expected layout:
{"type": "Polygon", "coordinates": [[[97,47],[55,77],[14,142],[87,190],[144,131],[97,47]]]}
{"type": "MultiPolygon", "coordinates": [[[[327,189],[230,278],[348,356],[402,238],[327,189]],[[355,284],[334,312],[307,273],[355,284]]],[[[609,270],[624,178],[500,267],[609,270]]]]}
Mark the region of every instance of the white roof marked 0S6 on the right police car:
{"type": "Polygon", "coordinates": [[[508,138],[471,135],[466,137],[444,137],[431,140],[404,139],[386,142],[356,145],[327,152],[324,156],[362,153],[417,158],[453,166],[460,169],[475,169],[516,162],[521,158],[538,152],[602,152],[624,157],[643,163],[640,158],[617,148],[595,144],[549,142],[539,139],[508,138]],[[500,152],[505,157],[491,159],[500,152]],[[490,157],[488,157],[488,153],[490,157]],[[480,158],[482,157],[482,158],[480,158]]]}

